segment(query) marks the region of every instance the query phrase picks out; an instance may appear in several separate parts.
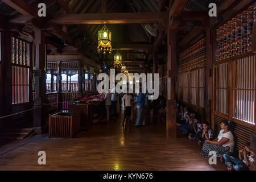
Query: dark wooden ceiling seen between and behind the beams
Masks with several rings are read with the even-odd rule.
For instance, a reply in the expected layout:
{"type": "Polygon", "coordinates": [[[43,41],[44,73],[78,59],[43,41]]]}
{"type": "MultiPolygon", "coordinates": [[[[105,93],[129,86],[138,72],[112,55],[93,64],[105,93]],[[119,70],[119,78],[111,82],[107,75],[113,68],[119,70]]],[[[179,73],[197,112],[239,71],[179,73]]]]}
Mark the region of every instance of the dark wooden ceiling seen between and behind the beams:
{"type": "MultiPolygon", "coordinates": [[[[98,13],[157,13],[159,11],[169,12],[172,9],[172,4],[175,0],[20,0],[27,3],[35,10],[39,3],[43,2],[47,5],[47,17],[56,17],[63,14],[98,14],[98,13]],[[170,5],[171,3],[171,5],[170,5]]],[[[183,0],[182,0],[183,1],[183,0]]],[[[251,0],[247,0],[251,1],[251,0]]],[[[7,3],[9,0],[0,0],[0,14],[5,17],[9,17],[10,20],[19,19],[24,14],[13,9],[7,3]],[[5,3],[6,2],[6,3],[5,3]]],[[[185,1],[184,1],[185,2],[185,1]]],[[[187,16],[181,17],[181,22],[179,24],[178,32],[178,42],[179,47],[184,48],[184,45],[192,42],[197,36],[202,34],[203,27],[205,26],[203,21],[198,18],[195,20],[188,19],[189,12],[194,14],[195,11],[207,13],[209,3],[217,3],[218,12],[225,14],[225,11],[230,11],[230,7],[234,7],[241,3],[241,0],[189,0],[183,8],[181,14],[186,14],[187,16]],[[186,19],[187,17],[187,19],[186,19]],[[189,35],[189,32],[194,31],[199,35],[189,35]]],[[[193,15],[193,17],[196,17],[193,15]]],[[[19,19],[20,20],[20,19],[19,19]]],[[[23,26],[23,31],[29,31],[29,26],[31,22],[20,23],[23,26]]],[[[163,24],[166,22],[158,23],[148,23],[152,27],[160,32],[164,32],[166,27],[163,24]]],[[[54,49],[53,47],[61,46],[64,47],[63,39],[71,40],[73,47],[85,48],[85,51],[81,51],[86,56],[98,58],[97,55],[97,32],[102,28],[102,24],[51,24],[47,26],[46,35],[49,40],[49,49],[54,49]],[[63,30],[67,30],[63,32],[63,30]],[[80,46],[76,46],[79,43],[80,46]],[[57,45],[57,46],[56,46],[57,45]]],[[[127,64],[133,66],[133,62],[138,62],[135,65],[142,68],[144,63],[152,63],[152,49],[143,48],[145,44],[151,44],[159,42],[157,44],[157,52],[159,63],[164,63],[166,59],[166,40],[162,38],[154,38],[150,36],[144,28],[144,24],[107,24],[107,27],[113,34],[113,44],[123,45],[123,44],[138,44],[142,48],[133,49],[122,49],[120,51],[123,54],[123,59],[130,61],[127,64]],[[140,62],[141,61],[141,62],[140,62]]],[[[29,32],[28,32],[29,33],[29,32]]],[[[165,34],[165,33],[163,33],[165,34]]],[[[147,47],[147,46],[146,46],[147,47]]],[[[65,48],[67,49],[67,48],[65,48]]],[[[154,50],[155,51],[155,50],[154,50]]],[[[180,51],[180,50],[178,50],[180,51]]],[[[51,53],[57,53],[56,51],[49,51],[51,53]]],[[[115,53],[115,51],[113,51],[115,53]]],[[[107,56],[104,58],[105,63],[112,65],[113,56],[107,56]]],[[[134,68],[135,68],[134,65],[134,68]]]]}

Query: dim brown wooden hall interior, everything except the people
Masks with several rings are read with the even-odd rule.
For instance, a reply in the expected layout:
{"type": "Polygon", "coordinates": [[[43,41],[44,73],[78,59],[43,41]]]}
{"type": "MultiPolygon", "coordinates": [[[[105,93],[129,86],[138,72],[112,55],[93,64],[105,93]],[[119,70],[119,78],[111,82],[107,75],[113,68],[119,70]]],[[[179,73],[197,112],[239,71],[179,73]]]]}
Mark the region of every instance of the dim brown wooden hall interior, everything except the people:
{"type": "Polygon", "coordinates": [[[0,170],[226,170],[181,133],[181,105],[214,133],[232,122],[236,151],[255,153],[255,11],[254,0],[0,0],[0,170]],[[123,128],[121,95],[106,119],[98,77],[113,68],[158,73],[146,126],[132,111],[123,128]]]}

